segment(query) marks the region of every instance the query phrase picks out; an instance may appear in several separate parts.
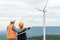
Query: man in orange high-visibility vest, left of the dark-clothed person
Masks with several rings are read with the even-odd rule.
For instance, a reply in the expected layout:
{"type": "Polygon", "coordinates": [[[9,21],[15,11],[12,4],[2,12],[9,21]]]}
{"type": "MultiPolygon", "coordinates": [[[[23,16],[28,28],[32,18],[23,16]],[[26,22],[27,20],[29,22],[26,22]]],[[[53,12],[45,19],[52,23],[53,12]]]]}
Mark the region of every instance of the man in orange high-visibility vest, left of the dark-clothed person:
{"type": "Polygon", "coordinates": [[[16,32],[12,30],[15,21],[11,21],[7,26],[7,40],[16,40],[16,32]]]}

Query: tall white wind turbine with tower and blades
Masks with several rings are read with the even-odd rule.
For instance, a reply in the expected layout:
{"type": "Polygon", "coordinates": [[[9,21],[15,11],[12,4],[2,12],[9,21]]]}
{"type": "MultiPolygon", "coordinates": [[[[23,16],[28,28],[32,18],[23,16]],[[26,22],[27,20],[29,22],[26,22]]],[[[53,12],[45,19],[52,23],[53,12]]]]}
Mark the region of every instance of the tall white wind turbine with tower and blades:
{"type": "Polygon", "coordinates": [[[36,8],[38,11],[41,11],[41,12],[43,12],[44,14],[43,14],[43,39],[44,40],[46,40],[46,33],[45,33],[45,13],[47,12],[45,9],[46,9],[46,7],[47,7],[47,3],[48,3],[48,0],[46,1],[46,4],[45,4],[45,6],[44,6],[44,8],[43,8],[43,10],[41,10],[41,9],[38,9],[38,8],[36,8]]]}

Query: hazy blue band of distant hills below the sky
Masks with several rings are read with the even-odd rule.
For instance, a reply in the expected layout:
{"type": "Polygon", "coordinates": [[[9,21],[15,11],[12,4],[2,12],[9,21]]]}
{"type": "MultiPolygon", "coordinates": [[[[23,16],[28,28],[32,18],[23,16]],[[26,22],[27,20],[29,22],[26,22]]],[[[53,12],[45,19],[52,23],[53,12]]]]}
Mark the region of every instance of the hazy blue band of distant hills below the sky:
{"type": "MultiPolygon", "coordinates": [[[[46,34],[60,34],[59,30],[60,30],[60,27],[46,27],[46,34]]],[[[6,34],[6,32],[7,32],[6,30],[0,31],[0,34],[6,34]]],[[[35,34],[43,34],[43,28],[42,27],[37,27],[37,28],[33,27],[32,29],[30,29],[30,30],[28,30],[26,32],[28,33],[28,35],[30,33],[32,33],[32,34],[33,33],[35,33],[35,34]],[[39,32],[39,33],[37,33],[37,32],[39,32]]]]}

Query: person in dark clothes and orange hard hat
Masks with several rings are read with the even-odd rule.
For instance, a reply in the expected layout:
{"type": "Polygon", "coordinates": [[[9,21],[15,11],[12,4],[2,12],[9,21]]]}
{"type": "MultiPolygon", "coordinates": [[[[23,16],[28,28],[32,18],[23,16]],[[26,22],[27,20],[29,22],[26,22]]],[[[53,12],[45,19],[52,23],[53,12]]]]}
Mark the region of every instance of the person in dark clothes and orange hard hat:
{"type": "MultiPolygon", "coordinates": [[[[24,23],[23,22],[19,22],[18,26],[20,27],[20,30],[25,30],[26,31],[26,30],[30,29],[30,27],[24,28],[24,23]]],[[[18,40],[27,40],[26,32],[18,33],[17,39],[18,40]]]]}

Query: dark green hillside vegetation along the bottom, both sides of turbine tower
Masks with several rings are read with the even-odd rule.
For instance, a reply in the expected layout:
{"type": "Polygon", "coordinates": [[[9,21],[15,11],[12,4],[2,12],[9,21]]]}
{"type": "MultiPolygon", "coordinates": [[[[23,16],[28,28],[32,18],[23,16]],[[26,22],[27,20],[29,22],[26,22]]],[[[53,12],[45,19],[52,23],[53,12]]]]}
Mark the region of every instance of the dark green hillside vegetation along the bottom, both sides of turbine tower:
{"type": "MultiPolygon", "coordinates": [[[[31,37],[31,38],[28,38],[28,40],[43,40],[43,36],[31,37]]],[[[46,40],[60,40],[60,34],[46,35],[46,40]]]]}

